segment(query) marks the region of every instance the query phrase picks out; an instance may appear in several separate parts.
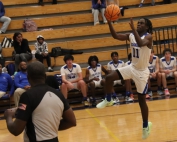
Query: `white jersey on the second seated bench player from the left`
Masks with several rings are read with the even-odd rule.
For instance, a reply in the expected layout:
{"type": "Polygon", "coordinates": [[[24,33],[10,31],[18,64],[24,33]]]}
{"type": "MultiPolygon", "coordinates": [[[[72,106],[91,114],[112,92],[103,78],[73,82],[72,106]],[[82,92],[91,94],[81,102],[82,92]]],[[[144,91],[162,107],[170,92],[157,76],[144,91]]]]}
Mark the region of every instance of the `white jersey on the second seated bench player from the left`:
{"type": "Polygon", "coordinates": [[[89,80],[94,77],[102,80],[101,64],[97,64],[96,68],[92,68],[91,66],[88,66],[87,69],[89,70],[89,80]]]}

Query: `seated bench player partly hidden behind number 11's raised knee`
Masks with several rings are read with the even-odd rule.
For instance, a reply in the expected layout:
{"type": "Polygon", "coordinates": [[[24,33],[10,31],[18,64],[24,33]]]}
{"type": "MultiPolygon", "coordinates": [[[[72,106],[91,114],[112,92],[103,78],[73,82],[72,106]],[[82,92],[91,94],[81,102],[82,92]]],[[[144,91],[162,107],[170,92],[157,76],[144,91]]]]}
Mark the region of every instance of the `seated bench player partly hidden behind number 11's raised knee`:
{"type": "MultiPolygon", "coordinates": [[[[110,61],[108,64],[107,64],[107,70],[109,71],[109,73],[111,73],[113,70],[116,70],[118,68],[121,68],[124,66],[124,62],[119,60],[119,57],[118,57],[118,53],[117,52],[112,52],[111,53],[111,58],[112,58],[112,61],[110,61]]],[[[114,86],[115,85],[122,85],[122,80],[116,80],[114,81],[114,86]]],[[[112,98],[113,98],[113,101],[114,103],[118,103],[119,102],[119,98],[117,97],[117,94],[115,93],[115,91],[113,90],[113,94],[112,94],[112,98]]]]}

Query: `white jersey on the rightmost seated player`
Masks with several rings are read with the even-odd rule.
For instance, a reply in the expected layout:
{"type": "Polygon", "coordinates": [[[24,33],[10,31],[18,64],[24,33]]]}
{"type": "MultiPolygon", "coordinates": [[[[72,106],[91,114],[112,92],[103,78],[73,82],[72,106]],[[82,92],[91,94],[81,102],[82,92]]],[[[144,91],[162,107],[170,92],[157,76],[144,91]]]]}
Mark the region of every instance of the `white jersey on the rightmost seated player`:
{"type": "Polygon", "coordinates": [[[165,60],[165,57],[162,57],[160,59],[160,68],[164,70],[172,70],[176,66],[176,58],[174,56],[171,56],[170,62],[167,62],[165,60]]]}

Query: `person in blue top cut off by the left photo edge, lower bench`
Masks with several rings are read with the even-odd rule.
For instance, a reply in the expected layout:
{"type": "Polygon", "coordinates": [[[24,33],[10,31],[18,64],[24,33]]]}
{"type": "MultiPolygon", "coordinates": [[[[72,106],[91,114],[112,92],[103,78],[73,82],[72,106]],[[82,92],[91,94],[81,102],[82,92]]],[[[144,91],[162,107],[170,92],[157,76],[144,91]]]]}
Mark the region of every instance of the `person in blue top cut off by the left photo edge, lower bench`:
{"type": "Polygon", "coordinates": [[[2,73],[2,65],[0,64],[0,98],[4,96],[7,91],[10,91],[8,94],[13,94],[13,82],[12,78],[7,73],[2,73]]]}

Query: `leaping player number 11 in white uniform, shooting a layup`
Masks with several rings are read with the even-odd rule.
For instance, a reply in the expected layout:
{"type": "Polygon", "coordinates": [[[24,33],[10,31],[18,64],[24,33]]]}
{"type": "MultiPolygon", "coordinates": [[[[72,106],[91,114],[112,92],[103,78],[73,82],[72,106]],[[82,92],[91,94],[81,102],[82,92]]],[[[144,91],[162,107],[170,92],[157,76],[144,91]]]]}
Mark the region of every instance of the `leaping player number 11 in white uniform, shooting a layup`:
{"type": "Polygon", "coordinates": [[[130,41],[132,63],[129,66],[112,71],[106,76],[105,91],[107,96],[105,100],[97,105],[97,108],[104,108],[113,104],[113,101],[111,100],[111,91],[115,80],[133,79],[137,88],[138,100],[143,118],[142,138],[146,139],[150,134],[152,126],[152,123],[148,122],[148,106],[146,104],[146,92],[148,90],[147,82],[149,78],[148,65],[152,48],[152,23],[149,19],[141,18],[138,21],[137,30],[134,27],[132,18],[130,19],[129,24],[132,29],[132,33],[118,34],[114,30],[111,21],[108,21],[113,38],[130,41]]]}

